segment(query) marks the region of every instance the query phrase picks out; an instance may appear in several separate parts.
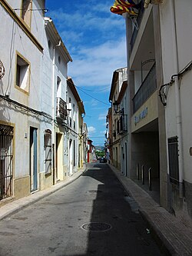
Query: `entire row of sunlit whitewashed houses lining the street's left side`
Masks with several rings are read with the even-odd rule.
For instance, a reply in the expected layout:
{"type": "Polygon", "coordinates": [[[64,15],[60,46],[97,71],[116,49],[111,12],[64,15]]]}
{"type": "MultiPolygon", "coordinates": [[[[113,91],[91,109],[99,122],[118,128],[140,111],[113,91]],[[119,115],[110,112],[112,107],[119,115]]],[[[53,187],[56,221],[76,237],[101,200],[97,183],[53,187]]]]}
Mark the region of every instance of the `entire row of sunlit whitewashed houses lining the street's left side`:
{"type": "Polygon", "coordinates": [[[0,22],[4,24],[0,28],[0,200],[4,203],[49,188],[78,171],[84,158],[81,154],[78,160],[83,126],[78,115],[84,113],[84,106],[78,92],[68,88],[72,59],[54,22],[45,18],[45,1],[1,0],[0,22]]]}

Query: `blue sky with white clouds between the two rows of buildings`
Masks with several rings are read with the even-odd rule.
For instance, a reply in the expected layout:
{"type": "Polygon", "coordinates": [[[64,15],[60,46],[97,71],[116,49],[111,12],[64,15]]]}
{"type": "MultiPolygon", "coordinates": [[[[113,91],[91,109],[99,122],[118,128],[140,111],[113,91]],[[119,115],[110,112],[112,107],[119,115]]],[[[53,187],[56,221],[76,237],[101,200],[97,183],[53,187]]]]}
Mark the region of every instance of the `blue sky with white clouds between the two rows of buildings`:
{"type": "Polygon", "coordinates": [[[110,12],[113,4],[114,0],[46,0],[46,16],[53,19],[73,59],[68,76],[84,102],[84,122],[94,145],[104,145],[113,72],[126,67],[125,21],[110,12]]]}

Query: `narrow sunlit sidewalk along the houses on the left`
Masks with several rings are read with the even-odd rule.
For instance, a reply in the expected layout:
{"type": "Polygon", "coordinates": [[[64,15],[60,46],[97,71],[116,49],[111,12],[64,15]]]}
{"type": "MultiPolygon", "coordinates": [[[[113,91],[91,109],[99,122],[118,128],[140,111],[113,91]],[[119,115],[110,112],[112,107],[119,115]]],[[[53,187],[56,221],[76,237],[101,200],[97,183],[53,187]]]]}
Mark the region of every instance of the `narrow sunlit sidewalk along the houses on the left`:
{"type": "Polygon", "coordinates": [[[65,181],[61,181],[58,184],[53,185],[51,188],[47,188],[42,191],[37,191],[33,194],[30,194],[28,197],[21,198],[3,205],[2,207],[0,207],[0,221],[2,221],[2,219],[7,218],[12,214],[15,214],[18,211],[21,211],[23,208],[26,208],[28,205],[33,204],[36,201],[39,201],[42,198],[45,198],[52,193],[55,193],[61,188],[65,188],[65,186],[71,184],[71,182],[79,178],[84,173],[85,170],[86,168],[75,172],[74,175],[66,178],[65,181]]]}

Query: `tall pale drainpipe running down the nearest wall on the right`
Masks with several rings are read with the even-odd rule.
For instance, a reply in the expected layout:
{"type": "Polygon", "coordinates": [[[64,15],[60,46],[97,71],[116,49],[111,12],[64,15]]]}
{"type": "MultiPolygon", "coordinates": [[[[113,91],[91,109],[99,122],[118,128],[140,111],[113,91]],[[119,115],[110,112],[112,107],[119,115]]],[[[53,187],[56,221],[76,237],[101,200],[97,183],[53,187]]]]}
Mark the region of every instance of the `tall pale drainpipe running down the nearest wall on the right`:
{"type": "Polygon", "coordinates": [[[183,181],[184,181],[184,155],[183,155],[183,136],[181,124],[181,107],[180,107],[180,85],[178,79],[179,65],[177,55],[177,32],[175,24],[174,0],[170,0],[170,18],[171,29],[173,34],[173,52],[174,52],[174,85],[175,85],[175,106],[176,106],[176,127],[178,136],[178,150],[179,150],[179,183],[180,183],[180,198],[183,198],[183,181]]]}

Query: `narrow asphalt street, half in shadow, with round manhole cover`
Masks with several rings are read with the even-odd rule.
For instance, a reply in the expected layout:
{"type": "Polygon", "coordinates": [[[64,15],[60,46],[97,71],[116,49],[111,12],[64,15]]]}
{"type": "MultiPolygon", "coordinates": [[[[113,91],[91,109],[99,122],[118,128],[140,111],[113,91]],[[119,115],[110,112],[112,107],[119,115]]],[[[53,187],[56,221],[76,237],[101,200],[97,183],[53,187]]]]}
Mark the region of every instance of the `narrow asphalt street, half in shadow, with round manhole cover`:
{"type": "Polygon", "coordinates": [[[164,254],[137,204],[108,165],[97,162],[71,185],[1,221],[0,255],[164,254]]]}

